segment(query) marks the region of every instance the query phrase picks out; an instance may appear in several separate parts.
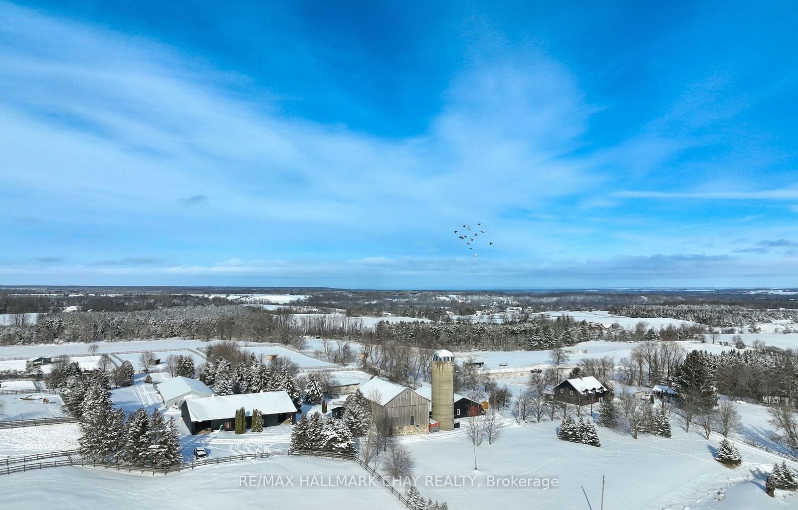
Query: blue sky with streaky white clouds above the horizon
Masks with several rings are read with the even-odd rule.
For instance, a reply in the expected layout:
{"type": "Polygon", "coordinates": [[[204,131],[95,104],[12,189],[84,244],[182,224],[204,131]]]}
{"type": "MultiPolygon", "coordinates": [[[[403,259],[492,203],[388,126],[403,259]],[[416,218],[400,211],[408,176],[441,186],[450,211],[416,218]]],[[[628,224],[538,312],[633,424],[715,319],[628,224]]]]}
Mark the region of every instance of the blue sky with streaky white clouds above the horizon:
{"type": "Polygon", "coordinates": [[[795,33],[794,2],[0,2],[0,284],[798,286],[795,33]]]}

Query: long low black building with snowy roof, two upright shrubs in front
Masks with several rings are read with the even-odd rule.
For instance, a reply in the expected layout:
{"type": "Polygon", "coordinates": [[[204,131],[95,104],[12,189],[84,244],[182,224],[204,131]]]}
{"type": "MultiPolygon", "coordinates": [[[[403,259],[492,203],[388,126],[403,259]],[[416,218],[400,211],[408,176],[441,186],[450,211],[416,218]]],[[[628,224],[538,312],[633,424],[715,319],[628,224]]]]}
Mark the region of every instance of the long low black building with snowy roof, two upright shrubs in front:
{"type": "Polygon", "coordinates": [[[263,413],[263,426],[296,422],[296,407],[286,391],[267,391],[226,395],[223,397],[188,398],[180,406],[183,422],[192,434],[203,430],[235,429],[235,411],[244,408],[247,429],[252,426],[252,410],[263,413]]]}

